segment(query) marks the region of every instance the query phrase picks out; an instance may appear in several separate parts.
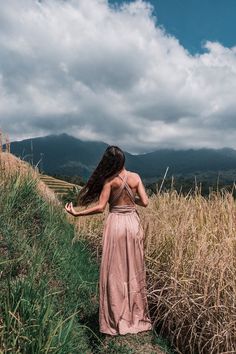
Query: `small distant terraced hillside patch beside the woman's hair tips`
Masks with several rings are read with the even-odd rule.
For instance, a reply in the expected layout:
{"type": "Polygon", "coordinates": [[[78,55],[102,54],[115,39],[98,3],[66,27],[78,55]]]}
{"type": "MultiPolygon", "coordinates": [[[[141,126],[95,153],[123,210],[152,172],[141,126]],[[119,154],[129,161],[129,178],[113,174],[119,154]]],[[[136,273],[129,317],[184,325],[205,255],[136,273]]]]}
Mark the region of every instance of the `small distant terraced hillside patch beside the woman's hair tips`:
{"type": "Polygon", "coordinates": [[[73,188],[78,188],[78,189],[81,188],[81,186],[78,186],[77,184],[62,181],[60,179],[57,179],[57,178],[54,178],[54,177],[51,177],[48,175],[41,174],[40,179],[51,190],[53,190],[57,196],[60,196],[60,197],[62,197],[63,195],[66,195],[70,190],[73,190],[73,188]]]}

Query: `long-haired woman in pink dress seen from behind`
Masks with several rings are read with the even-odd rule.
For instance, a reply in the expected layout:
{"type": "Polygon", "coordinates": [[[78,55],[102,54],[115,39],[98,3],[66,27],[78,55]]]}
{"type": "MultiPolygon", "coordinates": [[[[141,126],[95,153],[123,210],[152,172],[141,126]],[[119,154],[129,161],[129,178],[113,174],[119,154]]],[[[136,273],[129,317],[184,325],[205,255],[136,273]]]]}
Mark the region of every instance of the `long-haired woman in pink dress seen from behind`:
{"type": "Polygon", "coordinates": [[[79,205],[98,203],[75,211],[74,216],[102,213],[109,203],[103,231],[99,283],[100,332],[117,335],[151,330],[146,298],[143,228],[135,204],[146,207],[148,197],[138,174],[125,168],[125,155],[109,146],[79,194],[79,205]],[[137,194],[137,196],[135,196],[137,194]]]}

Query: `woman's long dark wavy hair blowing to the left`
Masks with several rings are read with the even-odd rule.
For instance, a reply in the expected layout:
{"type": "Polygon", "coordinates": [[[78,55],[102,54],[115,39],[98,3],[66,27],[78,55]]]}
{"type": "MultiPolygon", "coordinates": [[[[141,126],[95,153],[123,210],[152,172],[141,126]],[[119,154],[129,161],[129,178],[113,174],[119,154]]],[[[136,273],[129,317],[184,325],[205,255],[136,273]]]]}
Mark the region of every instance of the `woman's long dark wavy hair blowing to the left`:
{"type": "Polygon", "coordinates": [[[88,182],[81,189],[77,205],[87,206],[98,200],[105,180],[122,170],[124,164],[124,152],[118,146],[108,146],[88,182]]]}

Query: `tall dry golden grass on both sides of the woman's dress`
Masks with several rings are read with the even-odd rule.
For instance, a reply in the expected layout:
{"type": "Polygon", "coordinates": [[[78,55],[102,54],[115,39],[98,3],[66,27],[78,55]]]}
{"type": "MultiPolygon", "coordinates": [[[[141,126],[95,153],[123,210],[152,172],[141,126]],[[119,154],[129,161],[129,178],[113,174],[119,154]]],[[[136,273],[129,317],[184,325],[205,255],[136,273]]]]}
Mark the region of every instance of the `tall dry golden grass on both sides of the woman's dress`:
{"type": "MultiPolygon", "coordinates": [[[[236,353],[236,205],[232,193],[159,192],[139,207],[150,311],[178,353],[236,353]]],[[[106,215],[76,219],[101,255],[106,215]]]]}

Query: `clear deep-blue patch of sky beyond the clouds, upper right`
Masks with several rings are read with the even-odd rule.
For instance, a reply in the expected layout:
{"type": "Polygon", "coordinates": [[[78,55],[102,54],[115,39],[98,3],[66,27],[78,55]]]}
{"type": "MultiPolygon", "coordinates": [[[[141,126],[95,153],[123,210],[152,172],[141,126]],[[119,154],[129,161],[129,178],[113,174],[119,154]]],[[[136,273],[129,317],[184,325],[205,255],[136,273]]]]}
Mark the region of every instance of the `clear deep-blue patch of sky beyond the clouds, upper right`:
{"type": "MultiPolygon", "coordinates": [[[[122,1],[110,0],[110,3],[122,1]]],[[[191,54],[204,52],[207,40],[235,46],[235,0],[150,0],[150,3],[158,26],[175,36],[191,54]]]]}

